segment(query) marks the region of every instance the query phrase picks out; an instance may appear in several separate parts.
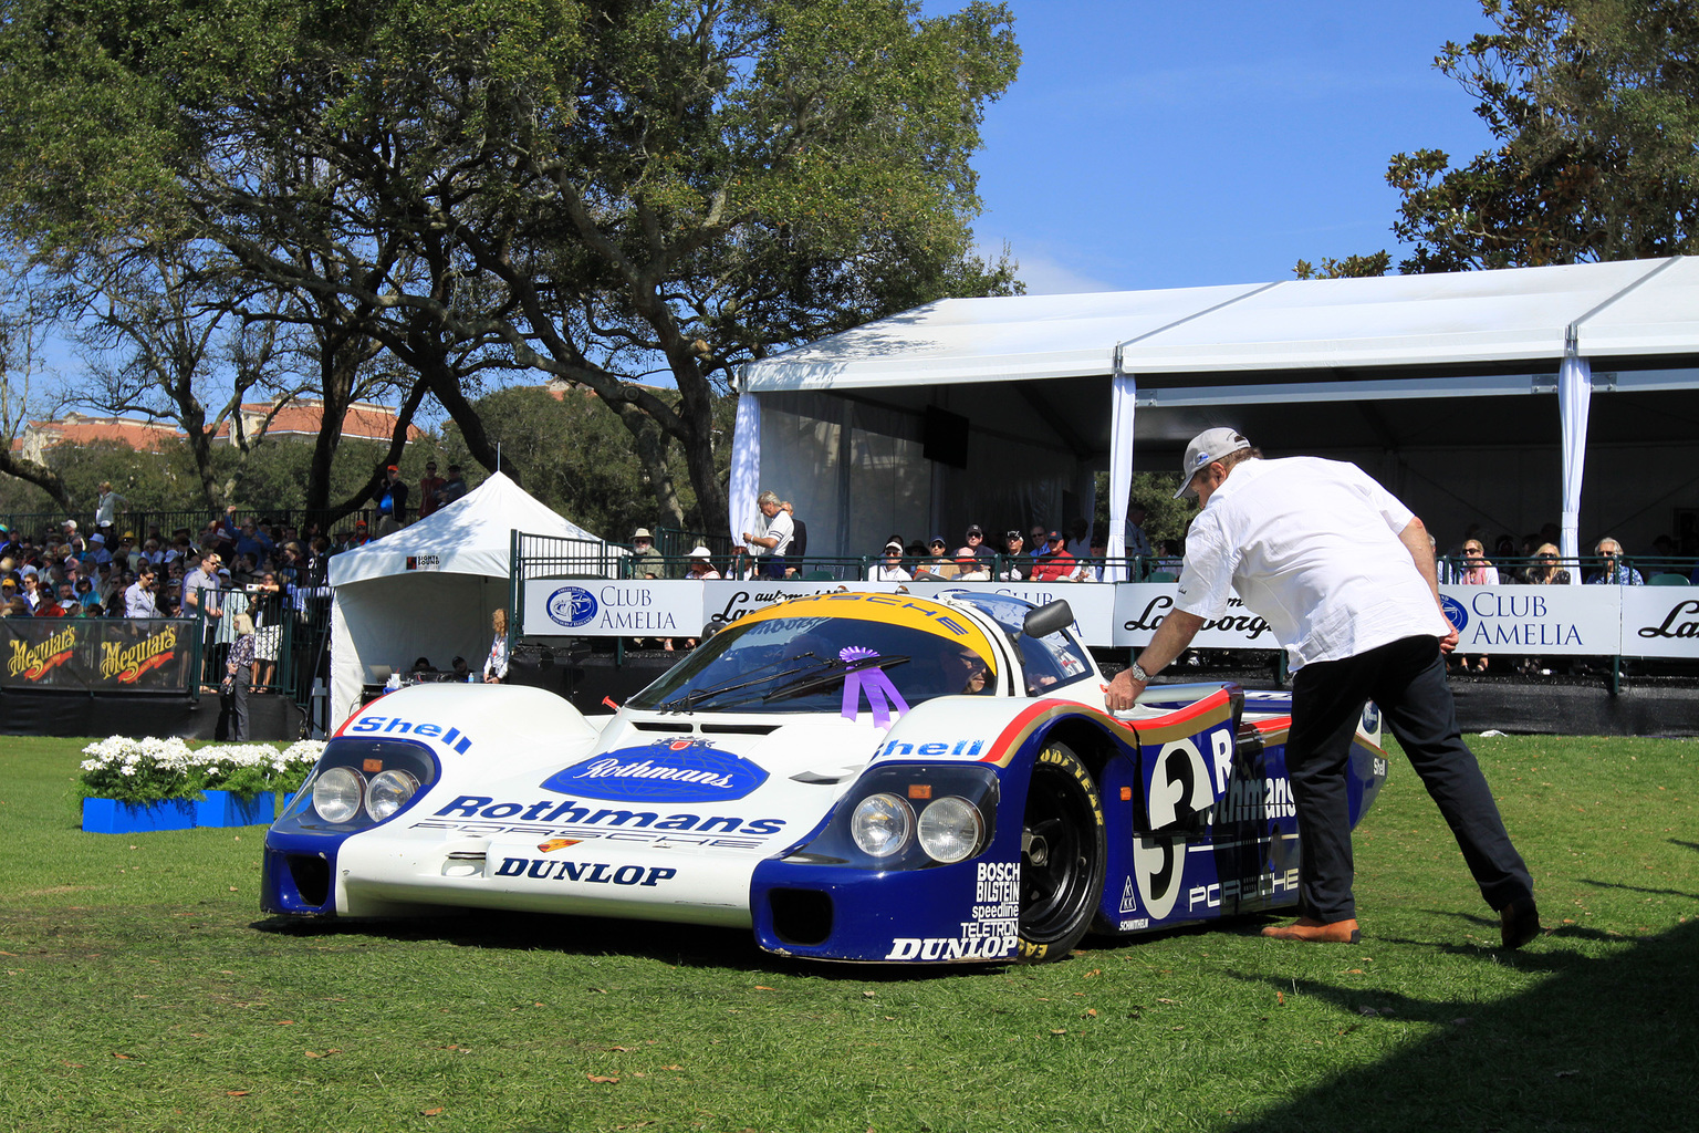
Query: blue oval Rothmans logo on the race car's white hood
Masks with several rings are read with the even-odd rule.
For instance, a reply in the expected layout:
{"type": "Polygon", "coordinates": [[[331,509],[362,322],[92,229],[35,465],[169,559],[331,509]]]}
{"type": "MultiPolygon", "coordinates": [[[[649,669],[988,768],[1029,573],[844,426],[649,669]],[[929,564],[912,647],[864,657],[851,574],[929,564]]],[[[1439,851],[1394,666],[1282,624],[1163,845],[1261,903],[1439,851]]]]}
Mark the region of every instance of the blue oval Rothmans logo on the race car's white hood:
{"type": "Polygon", "coordinates": [[[705,739],[620,747],[552,775],[544,786],[564,795],[651,802],[742,798],[766,771],[705,739]]]}

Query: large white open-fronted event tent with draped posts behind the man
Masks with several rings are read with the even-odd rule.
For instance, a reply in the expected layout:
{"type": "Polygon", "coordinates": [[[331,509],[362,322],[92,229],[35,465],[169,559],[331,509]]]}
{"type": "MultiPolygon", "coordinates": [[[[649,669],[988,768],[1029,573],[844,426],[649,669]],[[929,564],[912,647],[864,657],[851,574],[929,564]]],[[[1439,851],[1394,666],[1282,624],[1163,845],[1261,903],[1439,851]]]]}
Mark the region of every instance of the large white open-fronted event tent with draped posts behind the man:
{"type": "Polygon", "coordinates": [[[1441,547],[1466,523],[1558,521],[1566,555],[1699,538],[1699,258],[950,299],[751,362],[741,389],[731,527],[771,488],[819,554],[1060,527],[1108,469],[1120,555],[1133,471],[1215,425],[1356,460],[1441,547]],[[940,418],[953,455],[926,459],[940,418]]]}

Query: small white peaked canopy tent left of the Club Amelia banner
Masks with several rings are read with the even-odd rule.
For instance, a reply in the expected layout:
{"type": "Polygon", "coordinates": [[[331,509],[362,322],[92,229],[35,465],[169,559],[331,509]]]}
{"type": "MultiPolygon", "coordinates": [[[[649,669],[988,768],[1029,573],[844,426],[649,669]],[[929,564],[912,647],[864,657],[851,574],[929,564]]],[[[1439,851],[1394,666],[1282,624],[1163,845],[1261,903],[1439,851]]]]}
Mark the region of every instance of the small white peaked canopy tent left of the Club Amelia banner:
{"type": "Polygon", "coordinates": [[[360,707],[374,666],[398,673],[416,657],[447,669],[484,664],[491,615],[508,605],[513,532],[601,540],[496,472],[411,527],[330,561],[331,730],[360,707]]]}

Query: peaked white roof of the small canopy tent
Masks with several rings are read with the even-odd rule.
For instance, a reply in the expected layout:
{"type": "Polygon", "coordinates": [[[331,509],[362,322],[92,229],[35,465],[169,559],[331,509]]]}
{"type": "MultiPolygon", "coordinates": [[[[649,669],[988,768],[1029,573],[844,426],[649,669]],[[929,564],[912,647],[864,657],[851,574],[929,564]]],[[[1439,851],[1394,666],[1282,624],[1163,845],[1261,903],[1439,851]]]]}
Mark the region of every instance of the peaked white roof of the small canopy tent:
{"type": "Polygon", "coordinates": [[[513,530],[527,535],[601,540],[562,520],[506,474],[496,472],[447,508],[399,532],[333,555],[330,584],[392,574],[438,572],[508,578],[513,530]]]}

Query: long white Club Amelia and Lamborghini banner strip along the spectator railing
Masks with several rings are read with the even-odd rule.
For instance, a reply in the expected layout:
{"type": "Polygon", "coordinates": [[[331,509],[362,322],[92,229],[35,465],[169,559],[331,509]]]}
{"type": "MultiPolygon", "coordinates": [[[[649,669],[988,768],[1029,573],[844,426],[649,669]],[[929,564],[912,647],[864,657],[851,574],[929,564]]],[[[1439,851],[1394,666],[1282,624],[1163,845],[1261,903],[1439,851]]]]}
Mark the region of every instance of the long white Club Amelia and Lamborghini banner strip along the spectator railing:
{"type": "MultiPolygon", "coordinates": [[[[775,583],[528,579],[528,637],[697,637],[780,598],[839,588],[933,596],[950,589],[1014,595],[1036,605],[1065,598],[1087,645],[1150,642],[1174,608],[1174,583],[775,583]]],[[[1444,586],[1458,651],[1517,656],[1699,657],[1699,588],[1679,586],[1444,586]]],[[[1279,649],[1267,622],[1237,598],[1205,622],[1198,649],[1279,649]]]]}

